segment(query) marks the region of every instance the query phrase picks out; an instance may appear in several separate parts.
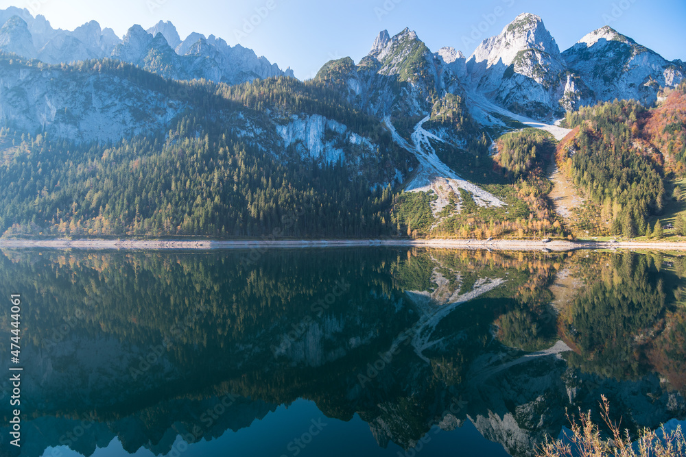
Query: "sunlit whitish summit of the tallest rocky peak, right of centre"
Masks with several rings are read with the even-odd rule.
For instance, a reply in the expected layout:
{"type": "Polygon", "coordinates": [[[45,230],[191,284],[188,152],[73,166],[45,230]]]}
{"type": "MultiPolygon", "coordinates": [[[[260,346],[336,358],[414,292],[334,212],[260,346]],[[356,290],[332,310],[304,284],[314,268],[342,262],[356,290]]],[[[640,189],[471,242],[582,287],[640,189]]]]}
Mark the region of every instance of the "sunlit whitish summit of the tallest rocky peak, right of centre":
{"type": "Polygon", "coordinates": [[[469,60],[475,62],[486,60],[488,66],[502,62],[512,63],[519,51],[538,49],[550,55],[558,55],[555,39],[543,25],[543,20],[536,14],[519,14],[514,21],[506,25],[503,31],[487,38],[475,49],[469,60]]]}

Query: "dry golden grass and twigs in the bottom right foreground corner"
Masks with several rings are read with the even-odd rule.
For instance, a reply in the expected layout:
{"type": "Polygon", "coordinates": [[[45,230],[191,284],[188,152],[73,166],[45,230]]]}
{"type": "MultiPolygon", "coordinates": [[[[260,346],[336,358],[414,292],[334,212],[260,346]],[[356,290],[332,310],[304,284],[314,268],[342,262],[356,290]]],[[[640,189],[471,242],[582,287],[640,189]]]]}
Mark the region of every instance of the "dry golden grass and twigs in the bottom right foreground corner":
{"type": "Polygon", "coordinates": [[[686,456],[686,439],[681,427],[665,433],[661,439],[652,430],[643,430],[639,437],[632,441],[628,430],[622,433],[620,425],[610,420],[610,405],[606,397],[602,396],[601,417],[610,429],[612,438],[604,439],[598,425],[591,421],[591,412],[580,412],[579,421],[569,417],[573,436],[570,443],[557,440],[547,441],[539,452],[538,457],[683,457],[686,456]]]}

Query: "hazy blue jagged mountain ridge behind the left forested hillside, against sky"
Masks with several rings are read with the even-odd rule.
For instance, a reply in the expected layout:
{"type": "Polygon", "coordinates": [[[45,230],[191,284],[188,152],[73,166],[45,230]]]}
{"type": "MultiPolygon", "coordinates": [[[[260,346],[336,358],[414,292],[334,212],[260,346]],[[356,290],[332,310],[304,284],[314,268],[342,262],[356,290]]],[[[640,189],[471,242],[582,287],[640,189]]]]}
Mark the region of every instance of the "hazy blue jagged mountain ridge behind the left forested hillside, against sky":
{"type": "Polygon", "coordinates": [[[293,76],[251,49],[230,47],[221,38],[191,33],[181,40],[171,22],[150,29],[130,27],[122,39],[90,21],[73,32],[53,29],[45,17],[27,10],[0,10],[0,50],[49,64],[117,58],[173,79],[206,79],[239,84],[255,78],[293,76]],[[158,38],[159,36],[159,38],[158,38]]]}

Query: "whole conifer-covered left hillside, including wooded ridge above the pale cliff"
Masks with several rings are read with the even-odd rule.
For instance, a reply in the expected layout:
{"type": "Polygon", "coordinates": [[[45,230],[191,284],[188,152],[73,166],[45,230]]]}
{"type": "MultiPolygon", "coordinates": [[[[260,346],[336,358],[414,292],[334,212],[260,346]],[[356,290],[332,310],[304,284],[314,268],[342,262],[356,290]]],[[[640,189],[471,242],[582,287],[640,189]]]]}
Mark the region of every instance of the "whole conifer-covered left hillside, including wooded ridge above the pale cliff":
{"type": "MultiPolygon", "coordinates": [[[[117,78],[164,97],[179,113],[164,129],[113,143],[4,127],[5,236],[397,233],[392,180],[407,173],[412,156],[379,121],[318,84],[286,77],[239,86],[175,82],[114,60],[50,66],[5,56],[0,64],[64,79],[117,78]],[[283,143],[279,128],[308,115],[334,123],[316,133],[341,148],[337,160],[309,154],[297,138],[283,143]]],[[[141,105],[134,113],[143,119],[152,109],[141,105]]]]}

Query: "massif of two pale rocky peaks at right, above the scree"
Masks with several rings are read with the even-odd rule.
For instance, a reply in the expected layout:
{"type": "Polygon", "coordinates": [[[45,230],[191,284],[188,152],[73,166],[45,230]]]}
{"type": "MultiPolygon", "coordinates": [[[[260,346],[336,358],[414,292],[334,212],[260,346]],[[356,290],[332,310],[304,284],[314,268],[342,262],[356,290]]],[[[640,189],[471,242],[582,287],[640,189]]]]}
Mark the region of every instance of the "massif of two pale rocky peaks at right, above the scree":
{"type": "Polygon", "coordinates": [[[520,14],[484,40],[466,63],[471,90],[513,112],[538,119],[612,99],[652,103],[660,87],[674,87],[686,73],[611,27],[584,36],[560,53],[534,14],[520,14]]]}

